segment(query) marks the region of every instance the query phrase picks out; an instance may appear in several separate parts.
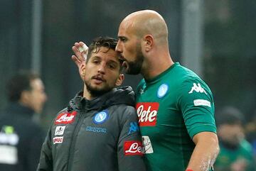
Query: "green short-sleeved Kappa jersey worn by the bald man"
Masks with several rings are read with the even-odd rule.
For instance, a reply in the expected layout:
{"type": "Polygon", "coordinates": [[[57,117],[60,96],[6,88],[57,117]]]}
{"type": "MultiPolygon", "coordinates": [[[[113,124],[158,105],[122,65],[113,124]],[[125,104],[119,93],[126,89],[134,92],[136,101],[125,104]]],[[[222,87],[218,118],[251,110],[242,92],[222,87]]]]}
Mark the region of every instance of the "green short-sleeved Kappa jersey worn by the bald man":
{"type": "Polygon", "coordinates": [[[137,87],[137,114],[148,171],[184,171],[196,133],[216,133],[213,95],[178,62],[137,87]]]}

